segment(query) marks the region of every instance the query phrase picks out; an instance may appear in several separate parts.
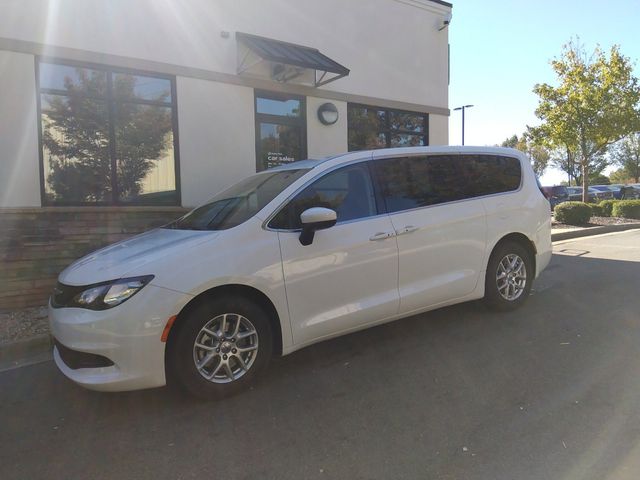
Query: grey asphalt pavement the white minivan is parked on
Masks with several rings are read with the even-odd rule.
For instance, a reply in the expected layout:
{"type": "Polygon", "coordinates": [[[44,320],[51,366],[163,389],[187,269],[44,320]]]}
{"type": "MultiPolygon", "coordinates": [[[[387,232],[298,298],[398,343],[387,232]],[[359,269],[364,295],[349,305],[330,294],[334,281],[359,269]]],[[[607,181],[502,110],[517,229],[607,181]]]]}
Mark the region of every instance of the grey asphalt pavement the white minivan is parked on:
{"type": "Polygon", "coordinates": [[[640,478],[640,231],[554,251],[519,311],[314,345],[224,401],[0,373],[0,478],[640,478]]]}

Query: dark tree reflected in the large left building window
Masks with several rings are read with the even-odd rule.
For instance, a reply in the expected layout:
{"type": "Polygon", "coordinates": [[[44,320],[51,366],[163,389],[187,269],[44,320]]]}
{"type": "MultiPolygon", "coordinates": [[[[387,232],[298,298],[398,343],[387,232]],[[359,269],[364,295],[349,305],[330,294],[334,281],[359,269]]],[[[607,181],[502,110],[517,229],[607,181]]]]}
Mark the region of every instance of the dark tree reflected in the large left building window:
{"type": "MultiPolygon", "coordinates": [[[[79,83],[66,79],[64,96],[47,95],[43,102],[42,141],[50,168],[47,183],[57,201],[110,201],[115,173],[119,198],[135,197],[170,143],[170,108],[118,102],[113,125],[116,141],[111,145],[109,105],[87,95],[106,91],[106,76],[90,75],[84,69],[77,73],[79,83]],[[112,148],[116,172],[111,164],[112,148]]],[[[133,76],[123,76],[113,85],[120,99],[133,98],[134,87],[133,76]]]]}

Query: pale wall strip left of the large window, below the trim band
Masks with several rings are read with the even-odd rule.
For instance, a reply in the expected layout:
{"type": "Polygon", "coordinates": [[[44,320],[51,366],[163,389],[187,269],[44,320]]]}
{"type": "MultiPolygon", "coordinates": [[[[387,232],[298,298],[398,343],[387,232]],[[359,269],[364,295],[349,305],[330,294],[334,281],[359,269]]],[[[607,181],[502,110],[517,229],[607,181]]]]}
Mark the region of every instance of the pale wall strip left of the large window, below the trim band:
{"type": "Polygon", "coordinates": [[[33,55],[0,50],[0,208],[40,206],[33,55]]]}

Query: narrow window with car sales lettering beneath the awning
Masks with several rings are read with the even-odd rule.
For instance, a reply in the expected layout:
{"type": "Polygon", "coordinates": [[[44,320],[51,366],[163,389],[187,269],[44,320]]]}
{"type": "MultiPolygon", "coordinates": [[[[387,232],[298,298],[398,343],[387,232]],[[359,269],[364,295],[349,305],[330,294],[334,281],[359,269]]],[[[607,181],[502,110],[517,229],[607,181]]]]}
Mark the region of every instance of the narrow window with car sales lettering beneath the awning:
{"type": "Polygon", "coordinates": [[[304,97],[256,92],[256,170],[307,157],[304,97]]]}

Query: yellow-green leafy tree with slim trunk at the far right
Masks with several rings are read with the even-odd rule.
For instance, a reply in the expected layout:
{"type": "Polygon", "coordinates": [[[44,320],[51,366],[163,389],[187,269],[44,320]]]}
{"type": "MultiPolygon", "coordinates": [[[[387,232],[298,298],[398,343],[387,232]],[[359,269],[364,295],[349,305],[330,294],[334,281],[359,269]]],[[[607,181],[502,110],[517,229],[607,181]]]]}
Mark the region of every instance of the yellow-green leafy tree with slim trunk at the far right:
{"type": "Polygon", "coordinates": [[[587,57],[577,43],[565,45],[551,62],[559,85],[537,84],[536,116],[542,124],[531,129],[537,141],[556,151],[568,152],[577,164],[588,200],[589,175],[606,162],[608,147],[640,130],[640,87],[632,65],[618,46],[609,56],[598,47],[587,57]],[[604,159],[604,160],[603,160],[604,159]]]}

